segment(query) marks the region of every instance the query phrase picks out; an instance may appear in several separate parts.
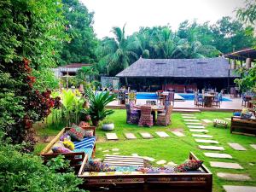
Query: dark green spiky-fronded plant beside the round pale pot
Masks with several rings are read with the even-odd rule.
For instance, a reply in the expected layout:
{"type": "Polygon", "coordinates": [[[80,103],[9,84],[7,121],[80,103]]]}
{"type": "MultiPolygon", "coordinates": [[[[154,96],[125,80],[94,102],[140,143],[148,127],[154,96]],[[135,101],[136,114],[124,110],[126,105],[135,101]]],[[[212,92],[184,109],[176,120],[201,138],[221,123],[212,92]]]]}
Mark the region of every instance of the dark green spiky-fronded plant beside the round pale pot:
{"type": "Polygon", "coordinates": [[[100,120],[105,119],[109,114],[113,113],[113,110],[107,109],[106,106],[109,102],[113,102],[116,96],[110,95],[109,91],[94,93],[91,88],[86,88],[84,93],[90,103],[90,108],[82,109],[81,112],[89,114],[92,124],[98,126],[100,120]]]}

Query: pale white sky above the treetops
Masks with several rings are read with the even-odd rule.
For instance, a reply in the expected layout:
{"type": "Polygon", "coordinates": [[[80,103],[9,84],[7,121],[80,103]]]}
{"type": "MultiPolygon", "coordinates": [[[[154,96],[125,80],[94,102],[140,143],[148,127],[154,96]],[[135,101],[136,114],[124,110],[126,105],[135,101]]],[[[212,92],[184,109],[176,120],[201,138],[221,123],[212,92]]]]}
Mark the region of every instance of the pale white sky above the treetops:
{"type": "Polygon", "coordinates": [[[95,12],[97,38],[113,37],[113,26],[125,26],[126,35],[140,26],[171,26],[177,30],[183,20],[214,23],[223,16],[236,17],[244,0],[80,0],[95,12]]]}

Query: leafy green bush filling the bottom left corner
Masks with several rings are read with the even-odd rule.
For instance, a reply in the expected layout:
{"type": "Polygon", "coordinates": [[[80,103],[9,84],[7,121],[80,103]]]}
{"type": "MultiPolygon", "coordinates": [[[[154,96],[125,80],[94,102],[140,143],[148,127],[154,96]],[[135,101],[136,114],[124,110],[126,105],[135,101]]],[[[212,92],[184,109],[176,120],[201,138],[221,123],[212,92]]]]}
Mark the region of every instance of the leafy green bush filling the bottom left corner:
{"type": "Polygon", "coordinates": [[[63,159],[55,158],[50,166],[44,166],[40,157],[20,153],[19,149],[20,145],[0,141],[0,191],[84,191],[78,188],[82,180],[73,172],[56,172],[67,168],[63,159]]]}

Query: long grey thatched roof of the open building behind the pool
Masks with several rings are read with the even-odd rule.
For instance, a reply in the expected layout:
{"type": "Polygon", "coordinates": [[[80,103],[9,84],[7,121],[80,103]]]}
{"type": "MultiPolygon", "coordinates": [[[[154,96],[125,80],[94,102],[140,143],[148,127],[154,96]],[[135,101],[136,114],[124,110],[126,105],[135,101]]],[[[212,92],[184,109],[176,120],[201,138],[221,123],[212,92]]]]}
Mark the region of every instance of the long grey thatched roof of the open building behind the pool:
{"type": "MultiPolygon", "coordinates": [[[[230,64],[223,57],[203,59],[140,58],[116,77],[227,78],[230,64]]],[[[230,77],[236,77],[230,70],[230,77]]]]}

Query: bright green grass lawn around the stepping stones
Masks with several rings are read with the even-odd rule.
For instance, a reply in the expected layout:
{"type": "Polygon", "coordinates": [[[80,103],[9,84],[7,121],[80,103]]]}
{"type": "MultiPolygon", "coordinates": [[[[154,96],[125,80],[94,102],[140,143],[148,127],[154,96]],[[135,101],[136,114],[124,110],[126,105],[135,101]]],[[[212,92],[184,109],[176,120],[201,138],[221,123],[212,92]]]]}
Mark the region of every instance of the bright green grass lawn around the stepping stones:
{"type": "MultiPolygon", "coordinates": [[[[202,112],[202,113],[194,113],[197,119],[223,119],[229,118],[231,113],[220,113],[220,112],[202,112]]],[[[96,150],[96,158],[104,158],[102,151],[111,149],[111,148],[119,148],[119,153],[124,155],[131,154],[139,154],[141,156],[153,157],[157,160],[166,160],[167,162],[173,161],[174,163],[180,164],[183,163],[189,156],[189,151],[195,153],[195,155],[204,160],[204,164],[210,169],[213,174],[213,191],[223,191],[222,186],[224,184],[229,185],[254,185],[256,186],[256,150],[249,146],[249,144],[256,143],[255,137],[247,137],[241,135],[230,134],[229,129],[224,128],[214,128],[212,124],[205,124],[207,127],[208,135],[211,135],[213,140],[218,141],[219,144],[215,144],[216,146],[223,146],[225,150],[220,153],[231,154],[233,156],[232,160],[224,160],[224,159],[215,159],[206,157],[203,152],[211,152],[204,151],[197,148],[198,144],[195,143],[194,137],[192,137],[192,133],[189,132],[189,129],[184,124],[181,113],[172,113],[172,125],[169,126],[153,126],[151,128],[148,127],[138,127],[137,125],[127,125],[125,123],[125,110],[115,110],[109,119],[113,120],[115,125],[115,132],[119,141],[107,142],[105,138],[105,131],[101,129],[96,130],[96,136],[98,137],[96,148],[102,148],[102,150],[96,150]],[[183,133],[186,137],[177,137],[172,134],[172,130],[175,129],[183,129],[183,133]],[[139,132],[148,131],[150,132],[154,138],[152,139],[143,139],[139,132]],[[167,138],[160,138],[155,134],[155,131],[166,131],[166,133],[170,136],[167,138]],[[124,133],[132,132],[136,135],[136,140],[127,140],[125,139],[124,133]],[[247,148],[247,151],[235,151],[230,148],[228,143],[240,143],[243,147],[247,148]],[[230,170],[230,169],[220,169],[220,168],[212,168],[209,166],[209,161],[224,161],[224,162],[234,162],[239,163],[244,169],[243,170],[230,170]],[[250,165],[251,164],[251,165],[250,165]],[[251,181],[247,182],[232,182],[225,181],[216,176],[217,172],[230,172],[230,173],[242,173],[247,174],[252,177],[251,181]]],[[[203,123],[203,122],[202,122],[203,123]]],[[[60,128],[61,129],[61,128],[60,128]]],[[[38,129],[39,135],[55,135],[60,129],[38,129]]],[[[202,144],[202,145],[207,145],[202,144]]],[[[208,144],[214,145],[214,144],[208,144]]],[[[44,148],[44,144],[39,143],[35,153],[38,153],[40,150],[44,148]]],[[[113,152],[109,152],[108,154],[112,154],[113,152]]],[[[218,152],[217,152],[218,153],[218,152]]],[[[154,164],[154,163],[153,163],[154,164]]],[[[156,166],[154,164],[154,166],[156,166]]]]}

